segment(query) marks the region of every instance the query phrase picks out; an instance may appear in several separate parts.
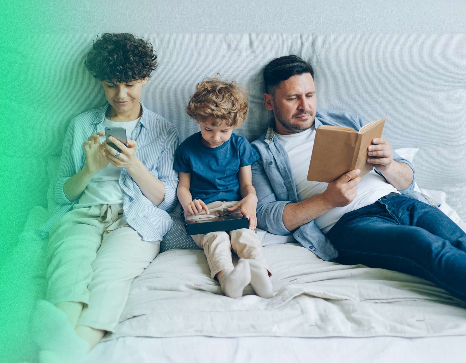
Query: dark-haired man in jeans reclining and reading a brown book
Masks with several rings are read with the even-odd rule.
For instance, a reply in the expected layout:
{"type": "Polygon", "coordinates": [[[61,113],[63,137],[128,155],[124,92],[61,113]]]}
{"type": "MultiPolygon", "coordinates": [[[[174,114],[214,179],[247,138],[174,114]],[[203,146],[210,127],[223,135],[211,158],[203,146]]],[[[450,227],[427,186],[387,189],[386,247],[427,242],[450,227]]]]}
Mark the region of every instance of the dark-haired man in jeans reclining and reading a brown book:
{"type": "Polygon", "coordinates": [[[375,138],[367,159],[375,172],[361,178],[352,170],[331,183],[308,181],[315,130],[359,130],[364,122],[348,112],[317,111],[313,69],[295,55],[271,61],[264,80],[264,102],[274,120],[252,144],[261,157],[252,165],[258,226],[275,234],[293,232],[323,260],[417,275],[466,300],[466,234],[412,192],[411,163],[384,138],[375,138]]]}

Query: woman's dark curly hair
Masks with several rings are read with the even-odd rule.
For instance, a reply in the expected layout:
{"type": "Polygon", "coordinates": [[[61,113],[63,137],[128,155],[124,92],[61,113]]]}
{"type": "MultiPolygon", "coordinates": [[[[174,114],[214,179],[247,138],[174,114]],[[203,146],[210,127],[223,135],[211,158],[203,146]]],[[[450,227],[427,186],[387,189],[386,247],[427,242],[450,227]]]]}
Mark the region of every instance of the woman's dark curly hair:
{"type": "Polygon", "coordinates": [[[129,33],[97,36],[85,64],[94,77],[110,83],[150,77],[158,66],[152,44],[129,33]]]}

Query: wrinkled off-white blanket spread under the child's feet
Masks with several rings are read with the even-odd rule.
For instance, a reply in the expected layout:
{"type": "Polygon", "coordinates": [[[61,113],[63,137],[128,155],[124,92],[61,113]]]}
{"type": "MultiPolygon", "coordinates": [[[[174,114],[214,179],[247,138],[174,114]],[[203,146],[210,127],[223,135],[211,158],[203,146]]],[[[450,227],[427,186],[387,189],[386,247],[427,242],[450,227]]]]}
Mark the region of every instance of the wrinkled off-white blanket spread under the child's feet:
{"type": "MultiPolygon", "coordinates": [[[[170,250],[137,277],[119,336],[446,336],[466,334],[466,309],[423,279],[326,262],[297,244],[264,247],[275,297],[231,299],[203,251],[170,250]]],[[[247,294],[252,294],[250,287],[247,294]]]]}

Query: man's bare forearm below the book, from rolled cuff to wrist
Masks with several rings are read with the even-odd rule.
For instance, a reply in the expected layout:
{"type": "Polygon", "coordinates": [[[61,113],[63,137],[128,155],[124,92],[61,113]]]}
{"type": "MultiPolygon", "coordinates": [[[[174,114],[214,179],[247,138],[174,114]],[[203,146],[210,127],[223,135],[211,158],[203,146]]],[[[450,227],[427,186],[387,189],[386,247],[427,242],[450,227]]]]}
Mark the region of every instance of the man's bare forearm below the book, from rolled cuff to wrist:
{"type": "Polygon", "coordinates": [[[293,231],[298,227],[320,217],[323,213],[332,209],[322,194],[305,199],[298,203],[288,203],[283,209],[283,225],[288,231],[293,231]]]}

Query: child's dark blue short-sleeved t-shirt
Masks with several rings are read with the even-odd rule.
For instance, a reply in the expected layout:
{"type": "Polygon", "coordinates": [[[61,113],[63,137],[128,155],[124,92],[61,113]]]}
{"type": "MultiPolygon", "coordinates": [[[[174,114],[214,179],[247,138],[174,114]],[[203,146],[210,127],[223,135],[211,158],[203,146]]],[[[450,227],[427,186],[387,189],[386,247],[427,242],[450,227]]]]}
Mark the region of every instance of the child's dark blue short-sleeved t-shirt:
{"type": "Polygon", "coordinates": [[[202,144],[201,133],[188,137],[178,146],[173,169],[191,173],[189,190],[192,199],[208,204],[217,200],[241,200],[238,172],[259,159],[249,142],[232,134],[218,147],[202,144]]]}

